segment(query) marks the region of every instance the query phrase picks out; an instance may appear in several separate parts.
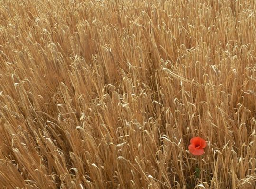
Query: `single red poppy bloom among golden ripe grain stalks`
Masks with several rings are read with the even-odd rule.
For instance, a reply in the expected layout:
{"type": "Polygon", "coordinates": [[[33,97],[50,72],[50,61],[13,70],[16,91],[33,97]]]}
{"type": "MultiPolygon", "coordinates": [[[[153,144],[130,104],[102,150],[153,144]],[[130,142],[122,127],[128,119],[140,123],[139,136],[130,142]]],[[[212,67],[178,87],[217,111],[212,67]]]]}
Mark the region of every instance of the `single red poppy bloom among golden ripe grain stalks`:
{"type": "Polygon", "coordinates": [[[189,151],[192,155],[202,155],[204,154],[204,148],[206,147],[206,142],[200,137],[194,137],[190,140],[189,151]]]}

